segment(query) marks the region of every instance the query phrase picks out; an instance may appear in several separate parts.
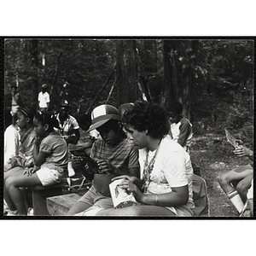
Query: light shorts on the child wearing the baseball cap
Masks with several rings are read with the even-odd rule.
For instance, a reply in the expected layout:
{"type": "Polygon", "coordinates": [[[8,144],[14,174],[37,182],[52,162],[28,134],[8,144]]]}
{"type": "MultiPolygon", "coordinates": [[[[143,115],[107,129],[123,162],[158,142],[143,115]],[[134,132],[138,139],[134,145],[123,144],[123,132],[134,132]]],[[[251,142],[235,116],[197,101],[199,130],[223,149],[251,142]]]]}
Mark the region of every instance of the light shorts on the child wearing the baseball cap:
{"type": "Polygon", "coordinates": [[[102,207],[103,209],[113,208],[113,201],[111,197],[100,194],[94,185],[79,199],[88,205],[102,207]]]}

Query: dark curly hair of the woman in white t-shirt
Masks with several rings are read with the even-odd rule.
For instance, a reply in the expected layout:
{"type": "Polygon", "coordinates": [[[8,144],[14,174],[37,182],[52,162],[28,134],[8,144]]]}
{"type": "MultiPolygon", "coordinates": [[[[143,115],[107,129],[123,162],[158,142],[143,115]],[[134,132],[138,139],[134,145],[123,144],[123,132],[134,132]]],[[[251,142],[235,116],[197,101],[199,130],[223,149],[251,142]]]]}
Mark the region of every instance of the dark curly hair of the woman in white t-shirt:
{"type": "Polygon", "coordinates": [[[124,113],[123,122],[137,131],[148,131],[148,136],[161,138],[169,131],[168,118],[164,108],[150,102],[137,101],[124,113]]]}

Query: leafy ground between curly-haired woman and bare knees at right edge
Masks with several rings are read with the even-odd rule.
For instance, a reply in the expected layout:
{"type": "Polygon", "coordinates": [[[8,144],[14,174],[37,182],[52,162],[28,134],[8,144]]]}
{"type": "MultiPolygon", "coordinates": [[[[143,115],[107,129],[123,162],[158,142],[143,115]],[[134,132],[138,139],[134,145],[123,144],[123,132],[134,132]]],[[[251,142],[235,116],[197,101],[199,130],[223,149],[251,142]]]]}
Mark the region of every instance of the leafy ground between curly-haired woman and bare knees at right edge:
{"type": "Polygon", "coordinates": [[[208,134],[195,137],[191,160],[200,166],[201,177],[207,182],[211,217],[237,217],[238,212],[218,184],[218,176],[236,166],[250,164],[247,157],[237,157],[225,137],[208,134]]]}

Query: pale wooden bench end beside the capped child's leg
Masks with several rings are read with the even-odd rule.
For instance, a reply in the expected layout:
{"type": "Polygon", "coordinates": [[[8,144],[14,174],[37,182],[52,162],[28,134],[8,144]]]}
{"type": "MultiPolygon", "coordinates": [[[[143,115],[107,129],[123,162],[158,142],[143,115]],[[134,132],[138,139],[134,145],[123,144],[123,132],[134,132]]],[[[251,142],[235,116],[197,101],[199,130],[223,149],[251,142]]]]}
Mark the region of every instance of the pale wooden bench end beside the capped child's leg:
{"type": "Polygon", "coordinates": [[[46,205],[51,216],[64,216],[75,204],[81,195],[72,193],[67,195],[51,196],[46,199],[46,205]]]}

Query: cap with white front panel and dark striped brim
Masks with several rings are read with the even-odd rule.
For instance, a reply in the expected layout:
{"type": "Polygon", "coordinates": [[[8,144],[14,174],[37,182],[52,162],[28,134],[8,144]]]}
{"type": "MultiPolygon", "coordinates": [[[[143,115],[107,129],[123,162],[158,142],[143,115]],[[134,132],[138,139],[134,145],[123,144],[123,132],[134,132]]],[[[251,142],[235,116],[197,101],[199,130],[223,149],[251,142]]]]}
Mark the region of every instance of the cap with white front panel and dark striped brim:
{"type": "Polygon", "coordinates": [[[104,124],[110,119],[120,120],[119,111],[111,105],[101,105],[93,109],[91,112],[91,125],[88,131],[92,131],[104,124]]]}

